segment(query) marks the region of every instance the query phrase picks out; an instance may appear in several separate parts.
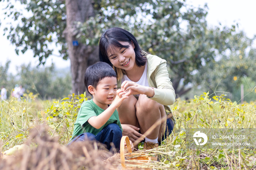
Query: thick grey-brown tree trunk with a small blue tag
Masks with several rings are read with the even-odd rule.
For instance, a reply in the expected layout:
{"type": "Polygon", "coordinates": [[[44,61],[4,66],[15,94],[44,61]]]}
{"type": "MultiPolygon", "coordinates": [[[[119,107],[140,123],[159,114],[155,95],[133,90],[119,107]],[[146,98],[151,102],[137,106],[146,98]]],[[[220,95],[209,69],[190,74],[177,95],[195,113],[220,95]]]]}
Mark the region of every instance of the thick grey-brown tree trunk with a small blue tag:
{"type": "Polygon", "coordinates": [[[98,61],[98,47],[79,43],[79,39],[76,39],[79,31],[76,28],[76,22],[84,23],[90,16],[95,16],[95,14],[90,0],[66,0],[65,6],[67,11],[67,27],[65,28],[64,35],[71,62],[72,93],[78,95],[86,90],[84,86],[84,73],[89,65],[98,61]]]}

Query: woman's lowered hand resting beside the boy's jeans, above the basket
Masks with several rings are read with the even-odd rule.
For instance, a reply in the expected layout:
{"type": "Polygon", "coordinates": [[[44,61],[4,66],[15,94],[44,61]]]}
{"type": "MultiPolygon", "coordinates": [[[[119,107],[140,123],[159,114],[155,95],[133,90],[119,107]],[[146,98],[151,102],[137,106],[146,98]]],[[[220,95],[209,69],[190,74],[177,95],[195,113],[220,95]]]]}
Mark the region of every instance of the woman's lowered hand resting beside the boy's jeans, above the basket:
{"type": "Polygon", "coordinates": [[[128,136],[132,142],[135,142],[135,140],[137,140],[139,137],[142,137],[143,139],[145,138],[144,135],[137,132],[138,130],[140,130],[140,128],[130,124],[121,124],[121,125],[123,128],[123,136],[128,136]]]}

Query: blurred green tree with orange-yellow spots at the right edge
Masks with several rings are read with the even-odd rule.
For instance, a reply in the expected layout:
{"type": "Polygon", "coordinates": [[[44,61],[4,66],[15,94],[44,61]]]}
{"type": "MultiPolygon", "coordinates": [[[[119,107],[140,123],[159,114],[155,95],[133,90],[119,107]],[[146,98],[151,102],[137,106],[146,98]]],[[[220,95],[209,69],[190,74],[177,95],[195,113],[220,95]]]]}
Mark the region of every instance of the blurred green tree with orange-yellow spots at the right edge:
{"type": "Polygon", "coordinates": [[[256,100],[256,49],[252,46],[254,39],[247,38],[244,32],[230,34],[226,38],[226,50],[218,51],[218,59],[212,60],[196,76],[198,81],[204,80],[201,83],[204,87],[202,90],[210,89],[210,93],[229,92],[226,93],[228,98],[240,101],[240,87],[243,84],[244,95],[252,93],[245,96],[245,100],[256,100]]]}

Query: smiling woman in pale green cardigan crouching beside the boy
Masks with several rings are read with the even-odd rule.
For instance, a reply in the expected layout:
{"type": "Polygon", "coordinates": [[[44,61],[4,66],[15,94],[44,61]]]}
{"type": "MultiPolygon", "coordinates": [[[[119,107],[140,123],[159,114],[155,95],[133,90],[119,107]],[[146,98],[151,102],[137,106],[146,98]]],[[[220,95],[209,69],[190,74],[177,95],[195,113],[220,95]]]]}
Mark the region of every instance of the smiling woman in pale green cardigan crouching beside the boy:
{"type": "Polygon", "coordinates": [[[175,92],[167,72],[166,61],[142,51],[136,38],[122,28],[110,28],[99,41],[99,59],[113,66],[118,88],[129,96],[117,108],[123,135],[134,142],[157,120],[164,120],[146,136],[143,149],[158,147],[173,130],[169,105],[175,92]],[[133,94],[133,95],[131,95],[133,94]]]}

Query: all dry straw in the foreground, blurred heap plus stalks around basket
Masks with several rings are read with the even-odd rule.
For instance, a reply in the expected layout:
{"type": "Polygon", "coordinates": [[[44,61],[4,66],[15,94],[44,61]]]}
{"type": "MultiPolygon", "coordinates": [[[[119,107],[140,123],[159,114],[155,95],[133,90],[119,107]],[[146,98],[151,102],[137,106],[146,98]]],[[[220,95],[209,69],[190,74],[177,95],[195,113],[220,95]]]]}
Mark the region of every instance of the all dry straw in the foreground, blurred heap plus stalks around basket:
{"type": "MultiPolygon", "coordinates": [[[[161,123],[157,121],[155,124],[161,123]]],[[[154,129],[154,125],[151,130],[154,129]]],[[[1,170],[121,170],[120,154],[108,151],[102,144],[95,141],[77,142],[71,146],[61,145],[58,138],[49,135],[47,124],[38,125],[29,132],[29,139],[25,142],[30,149],[22,150],[12,157],[0,159],[1,170]]],[[[147,131],[148,132],[148,131],[147,131]]],[[[172,146],[167,146],[172,147],[172,146]]],[[[167,154],[166,147],[154,148],[150,151],[139,150],[133,152],[131,158],[141,155],[167,154]],[[137,155],[137,156],[136,156],[137,155]]],[[[169,166],[158,161],[141,161],[126,159],[126,169],[168,169],[169,166]]],[[[123,168],[124,169],[124,168],[123,168]]]]}

